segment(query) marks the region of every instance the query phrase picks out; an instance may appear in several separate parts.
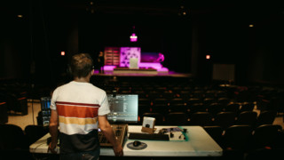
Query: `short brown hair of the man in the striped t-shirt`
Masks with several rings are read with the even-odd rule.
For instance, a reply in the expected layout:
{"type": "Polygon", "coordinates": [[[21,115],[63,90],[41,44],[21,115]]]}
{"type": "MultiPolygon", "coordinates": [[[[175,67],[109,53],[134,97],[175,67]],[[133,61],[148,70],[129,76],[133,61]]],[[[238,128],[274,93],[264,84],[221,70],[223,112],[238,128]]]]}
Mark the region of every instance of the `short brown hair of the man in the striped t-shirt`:
{"type": "Polygon", "coordinates": [[[93,66],[93,60],[89,53],[79,53],[72,56],[71,73],[74,77],[85,77],[90,74],[93,66]]]}

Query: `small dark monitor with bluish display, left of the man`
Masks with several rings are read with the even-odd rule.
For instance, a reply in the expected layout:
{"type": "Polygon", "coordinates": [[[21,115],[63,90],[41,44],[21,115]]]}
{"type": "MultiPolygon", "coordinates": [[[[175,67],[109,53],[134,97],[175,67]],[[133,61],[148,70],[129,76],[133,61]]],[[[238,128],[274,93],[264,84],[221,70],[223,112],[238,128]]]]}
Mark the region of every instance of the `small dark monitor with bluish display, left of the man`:
{"type": "Polygon", "coordinates": [[[42,121],[43,126],[50,124],[51,118],[51,97],[41,98],[42,121]]]}

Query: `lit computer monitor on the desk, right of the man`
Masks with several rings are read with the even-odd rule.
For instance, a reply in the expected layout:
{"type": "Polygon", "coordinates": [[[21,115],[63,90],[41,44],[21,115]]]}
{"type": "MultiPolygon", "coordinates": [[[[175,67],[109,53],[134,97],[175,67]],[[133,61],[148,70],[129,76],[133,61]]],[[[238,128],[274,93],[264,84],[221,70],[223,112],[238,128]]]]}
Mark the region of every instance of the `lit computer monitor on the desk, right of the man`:
{"type": "Polygon", "coordinates": [[[107,94],[110,113],[109,123],[138,122],[138,94],[107,94]]]}

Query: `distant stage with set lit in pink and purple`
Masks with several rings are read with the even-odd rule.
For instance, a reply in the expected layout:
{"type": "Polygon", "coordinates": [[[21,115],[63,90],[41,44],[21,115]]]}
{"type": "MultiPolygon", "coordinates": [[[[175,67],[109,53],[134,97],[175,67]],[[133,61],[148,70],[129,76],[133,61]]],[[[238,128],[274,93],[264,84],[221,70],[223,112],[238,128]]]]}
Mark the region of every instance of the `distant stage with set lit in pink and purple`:
{"type": "Polygon", "coordinates": [[[102,56],[104,62],[98,65],[94,76],[193,76],[170,70],[163,66],[165,57],[162,52],[142,52],[141,47],[108,46],[102,56]]]}

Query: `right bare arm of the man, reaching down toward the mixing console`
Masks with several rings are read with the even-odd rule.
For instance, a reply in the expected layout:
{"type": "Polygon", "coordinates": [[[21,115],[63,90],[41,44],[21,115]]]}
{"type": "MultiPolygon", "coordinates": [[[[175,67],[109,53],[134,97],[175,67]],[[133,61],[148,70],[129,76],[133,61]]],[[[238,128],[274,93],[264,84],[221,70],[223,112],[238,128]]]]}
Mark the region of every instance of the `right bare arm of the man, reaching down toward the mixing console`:
{"type": "Polygon", "coordinates": [[[123,156],[123,148],[122,145],[114,138],[114,132],[111,125],[108,123],[106,116],[99,116],[99,128],[103,132],[108,140],[114,148],[115,156],[123,156]]]}

